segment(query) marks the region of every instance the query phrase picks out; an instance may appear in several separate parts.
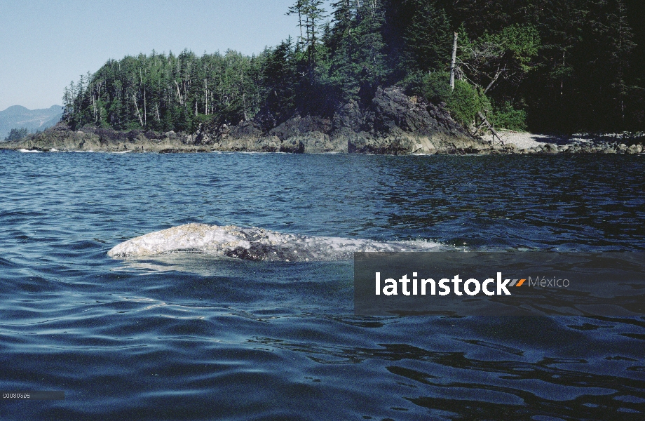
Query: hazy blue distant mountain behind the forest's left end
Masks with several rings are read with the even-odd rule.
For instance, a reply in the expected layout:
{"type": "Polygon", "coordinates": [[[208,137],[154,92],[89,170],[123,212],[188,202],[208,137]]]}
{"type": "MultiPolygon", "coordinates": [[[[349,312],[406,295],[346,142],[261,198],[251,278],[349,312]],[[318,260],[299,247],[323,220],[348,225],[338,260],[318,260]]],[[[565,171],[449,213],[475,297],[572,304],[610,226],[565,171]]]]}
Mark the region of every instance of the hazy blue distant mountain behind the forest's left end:
{"type": "Polygon", "coordinates": [[[3,141],[12,128],[27,128],[29,133],[42,131],[55,125],[62,116],[62,107],[52,105],[46,109],[27,109],[13,105],[0,111],[0,142],[3,141]]]}

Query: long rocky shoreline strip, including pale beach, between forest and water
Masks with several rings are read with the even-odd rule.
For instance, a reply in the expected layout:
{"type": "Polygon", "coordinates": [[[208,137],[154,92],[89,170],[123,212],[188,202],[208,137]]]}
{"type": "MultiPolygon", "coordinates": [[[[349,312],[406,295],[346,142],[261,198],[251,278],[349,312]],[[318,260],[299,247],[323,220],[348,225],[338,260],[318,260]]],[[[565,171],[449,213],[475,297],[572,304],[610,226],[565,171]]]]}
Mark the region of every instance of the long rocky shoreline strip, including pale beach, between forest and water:
{"type": "Polygon", "coordinates": [[[333,118],[294,116],[273,128],[262,119],[237,126],[204,125],[197,133],[72,131],[58,123],[43,133],[0,143],[0,149],[40,152],[289,152],[363,154],[640,154],[643,137],[557,138],[502,132],[501,139],[475,137],[442,105],[409,97],[399,88],[379,88],[367,105],[350,102],[333,118]]]}

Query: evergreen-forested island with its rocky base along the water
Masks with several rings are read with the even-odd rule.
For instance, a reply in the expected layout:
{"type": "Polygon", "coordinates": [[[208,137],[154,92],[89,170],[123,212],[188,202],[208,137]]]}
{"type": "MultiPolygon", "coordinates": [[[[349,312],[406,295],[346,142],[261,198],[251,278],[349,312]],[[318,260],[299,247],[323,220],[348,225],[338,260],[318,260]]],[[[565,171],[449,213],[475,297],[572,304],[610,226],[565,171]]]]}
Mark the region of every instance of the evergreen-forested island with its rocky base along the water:
{"type": "Polygon", "coordinates": [[[323,6],[295,1],[286,13],[299,36],[259,55],[152,51],[108,60],[64,89],[56,128],[21,145],[508,152],[478,135],[645,130],[639,1],[323,6]]]}

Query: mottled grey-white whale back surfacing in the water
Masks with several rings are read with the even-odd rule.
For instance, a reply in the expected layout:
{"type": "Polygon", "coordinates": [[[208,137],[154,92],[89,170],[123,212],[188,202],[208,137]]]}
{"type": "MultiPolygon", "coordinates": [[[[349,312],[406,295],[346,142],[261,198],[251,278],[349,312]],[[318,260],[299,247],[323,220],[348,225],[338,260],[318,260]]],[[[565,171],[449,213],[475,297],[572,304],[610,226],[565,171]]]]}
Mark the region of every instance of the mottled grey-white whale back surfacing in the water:
{"type": "Polygon", "coordinates": [[[427,251],[437,246],[426,241],[381,242],[285,234],[235,225],[186,224],[137,236],[114,246],[107,254],[113,258],[137,258],[183,251],[245,260],[302,262],[347,260],[361,251],[427,251]]]}

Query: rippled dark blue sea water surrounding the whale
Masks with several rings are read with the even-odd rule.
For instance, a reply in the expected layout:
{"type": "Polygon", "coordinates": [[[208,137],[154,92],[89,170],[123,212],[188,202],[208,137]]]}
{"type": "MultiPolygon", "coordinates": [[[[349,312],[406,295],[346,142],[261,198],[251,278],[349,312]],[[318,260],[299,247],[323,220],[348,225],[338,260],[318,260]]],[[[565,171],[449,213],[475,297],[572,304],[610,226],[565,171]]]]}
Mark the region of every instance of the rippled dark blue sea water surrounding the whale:
{"type": "Polygon", "coordinates": [[[0,152],[1,420],[643,420],[645,319],[352,315],[351,262],[111,247],[187,222],[645,250],[643,156],[0,152]]]}

